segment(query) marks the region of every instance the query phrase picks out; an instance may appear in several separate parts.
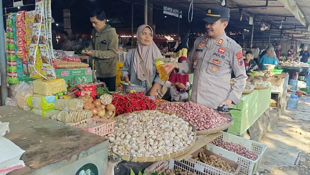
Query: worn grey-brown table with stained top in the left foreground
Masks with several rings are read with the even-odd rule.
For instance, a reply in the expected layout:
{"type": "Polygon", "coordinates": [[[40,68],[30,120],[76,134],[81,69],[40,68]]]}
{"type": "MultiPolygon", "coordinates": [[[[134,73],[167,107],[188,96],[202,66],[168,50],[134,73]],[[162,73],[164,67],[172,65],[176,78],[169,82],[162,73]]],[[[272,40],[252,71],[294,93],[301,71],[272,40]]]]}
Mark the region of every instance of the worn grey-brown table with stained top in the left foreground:
{"type": "Polygon", "coordinates": [[[5,138],[26,152],[26,167],[7,175],[79,175],[90,170],[104,175],[109,140],[65,123],[11,106],[0,106],[0,121],[9,122],[5,138]]]}

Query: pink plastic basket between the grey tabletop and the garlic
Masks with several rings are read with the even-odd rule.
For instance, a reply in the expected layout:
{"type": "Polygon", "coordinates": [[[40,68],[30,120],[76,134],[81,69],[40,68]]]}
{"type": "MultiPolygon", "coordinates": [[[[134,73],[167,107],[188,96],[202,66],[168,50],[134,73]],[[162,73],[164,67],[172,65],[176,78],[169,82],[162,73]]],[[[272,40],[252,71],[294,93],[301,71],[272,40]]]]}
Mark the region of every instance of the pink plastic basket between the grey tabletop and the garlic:
{"type": "Polygon", "coordinates": [[[88,131],[90,133],[97,134],[99,136],[105,136],[113,132],[114,123],[115,123],[114,120],[109,120],[109,119],[86,119],[78,123],[73,123],[71,124],[71,126],[88,131]],[[89,123],[90,120],[96,121],[96,123],[103,123],[103,124],[100,124],[92,128],[79,126],[80,124],[83,124],[83,123],[89,123]]]}

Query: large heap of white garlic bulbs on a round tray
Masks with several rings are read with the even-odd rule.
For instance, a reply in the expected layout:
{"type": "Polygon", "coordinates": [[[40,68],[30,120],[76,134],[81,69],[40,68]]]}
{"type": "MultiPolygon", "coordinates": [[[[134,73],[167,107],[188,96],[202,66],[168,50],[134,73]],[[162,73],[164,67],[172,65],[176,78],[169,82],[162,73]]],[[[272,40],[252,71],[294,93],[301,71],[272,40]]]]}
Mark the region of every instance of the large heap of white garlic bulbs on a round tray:
{"type": "Polygon", "coordinates": [[[174,114],[146,110],[117,117],[108,138],[110,153],[158,157],[187,148],[194,141],[194,132],[188,122],[174,114]]]}

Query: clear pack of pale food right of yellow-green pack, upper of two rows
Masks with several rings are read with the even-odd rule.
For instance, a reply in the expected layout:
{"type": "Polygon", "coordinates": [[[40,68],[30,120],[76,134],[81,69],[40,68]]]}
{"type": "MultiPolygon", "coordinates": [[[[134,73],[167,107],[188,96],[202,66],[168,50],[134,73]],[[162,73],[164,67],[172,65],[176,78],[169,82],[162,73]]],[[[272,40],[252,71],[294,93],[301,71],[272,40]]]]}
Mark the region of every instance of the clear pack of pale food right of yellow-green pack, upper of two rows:
{"type": "Polygon", "coordinates": [[[59,99],[54,103],[54,108],[58,110],[81,111],[83,109],[82,99],[59,99]]]}

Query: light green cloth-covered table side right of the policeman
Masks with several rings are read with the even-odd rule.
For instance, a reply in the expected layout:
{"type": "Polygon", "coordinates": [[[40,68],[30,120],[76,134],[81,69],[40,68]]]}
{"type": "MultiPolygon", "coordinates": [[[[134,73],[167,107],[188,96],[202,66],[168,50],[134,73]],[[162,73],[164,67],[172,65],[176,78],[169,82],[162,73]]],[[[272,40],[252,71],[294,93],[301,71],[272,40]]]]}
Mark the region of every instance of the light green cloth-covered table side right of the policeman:
{"type": "Polygon", "coordinates": [[[269,108],[270,99],[271,85],[268,89],[254,90],[250,94],[242,95],[239,103],[232,105],[232,108],[240,109],[241,111],[231,110],[234,123],[228,128],[228,133],[238,136],[244,134],[265,110],[269,108]]]}

